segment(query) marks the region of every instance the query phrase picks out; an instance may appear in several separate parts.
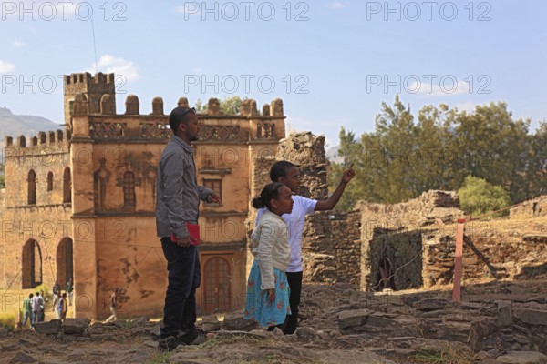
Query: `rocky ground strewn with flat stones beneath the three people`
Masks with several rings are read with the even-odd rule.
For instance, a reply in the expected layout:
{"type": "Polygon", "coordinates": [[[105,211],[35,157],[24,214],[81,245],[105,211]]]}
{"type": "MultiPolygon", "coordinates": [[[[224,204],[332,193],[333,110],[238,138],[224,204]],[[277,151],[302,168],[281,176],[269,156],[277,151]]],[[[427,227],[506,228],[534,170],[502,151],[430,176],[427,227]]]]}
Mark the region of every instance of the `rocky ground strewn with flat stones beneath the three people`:
{"type": "Polygon", "coordinates": [[[210,340],[157,351],[160,322],[57,320],[36,332],[0,329],[2,363],[547,363],[547,279],[491,281],[451,291],[358,292],[306,286],[292,336],[235,313],[203,318],[210,340]]]}

